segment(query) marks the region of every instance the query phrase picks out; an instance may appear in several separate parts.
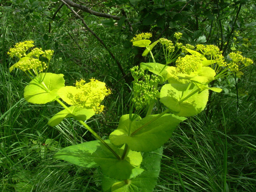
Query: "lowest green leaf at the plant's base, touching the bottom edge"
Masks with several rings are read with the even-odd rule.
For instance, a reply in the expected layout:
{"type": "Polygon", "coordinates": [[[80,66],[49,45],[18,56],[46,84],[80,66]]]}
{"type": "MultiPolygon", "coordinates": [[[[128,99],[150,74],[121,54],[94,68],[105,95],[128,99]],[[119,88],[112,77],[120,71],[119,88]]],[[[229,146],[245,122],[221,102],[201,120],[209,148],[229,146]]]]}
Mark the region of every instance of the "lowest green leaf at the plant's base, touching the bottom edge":
{"type": "Polygon", "coordinates": [[[125,182],[103,175],[103,192],[152,192],[157,184],[162,153],[163,148],[159,148],[153,151],[153,153],[144,153],[140,167],[145,171],[135,179],[125,182]]]}

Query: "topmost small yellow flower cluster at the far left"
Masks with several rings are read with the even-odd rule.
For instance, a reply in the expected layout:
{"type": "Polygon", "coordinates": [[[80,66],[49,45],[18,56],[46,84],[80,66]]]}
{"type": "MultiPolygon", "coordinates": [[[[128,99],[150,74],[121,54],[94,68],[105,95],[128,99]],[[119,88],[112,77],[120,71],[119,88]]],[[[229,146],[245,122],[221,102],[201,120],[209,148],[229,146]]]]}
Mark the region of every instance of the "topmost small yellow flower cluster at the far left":
{"type": "Polygon", "coordinates": [[[16,43],[7,54],[10,55],[11,58],[15,56],[20,59],[22,56],[26,56],[25,52],[31,47],[34,47],[34,41],[32,40],[16,43]]]}

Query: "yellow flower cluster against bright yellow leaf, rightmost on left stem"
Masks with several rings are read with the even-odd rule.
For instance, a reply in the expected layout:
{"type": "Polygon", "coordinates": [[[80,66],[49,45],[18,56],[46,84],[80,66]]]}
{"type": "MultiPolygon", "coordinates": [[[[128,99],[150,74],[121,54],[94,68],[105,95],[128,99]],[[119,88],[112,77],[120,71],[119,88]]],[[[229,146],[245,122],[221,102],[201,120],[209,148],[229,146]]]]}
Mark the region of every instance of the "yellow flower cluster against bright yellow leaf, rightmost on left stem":
{"type": "Polygon", "coordinates": [[[100,102],[111,94],[105,83],[93,78],[90,79],[89,83],[86,83],[83,79],[76,81],[76,88],[79,89],[74,97],[76,106],[93,108],[96,114],[101,113],[104,109],[104,105],[100,105],[100,102]]]}

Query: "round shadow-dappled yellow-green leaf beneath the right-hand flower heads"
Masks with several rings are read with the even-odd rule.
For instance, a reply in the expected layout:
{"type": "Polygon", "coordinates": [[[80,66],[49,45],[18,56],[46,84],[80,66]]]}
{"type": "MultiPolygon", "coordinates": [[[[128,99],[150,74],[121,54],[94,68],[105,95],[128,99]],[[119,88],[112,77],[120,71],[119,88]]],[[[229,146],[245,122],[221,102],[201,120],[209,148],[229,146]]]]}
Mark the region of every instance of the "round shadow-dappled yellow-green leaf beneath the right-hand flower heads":
{"type": "Polygon", "coordinates": [[[194,116],[204,110],[208,101],[208,89],[200,93],[198,91],[200,89],[191,83],[165,84],[160,91],[160,102],[177,116],[194,116]],[[180,102],[181,99],[186,98],[190,94],[193,95],[180,102]]]}

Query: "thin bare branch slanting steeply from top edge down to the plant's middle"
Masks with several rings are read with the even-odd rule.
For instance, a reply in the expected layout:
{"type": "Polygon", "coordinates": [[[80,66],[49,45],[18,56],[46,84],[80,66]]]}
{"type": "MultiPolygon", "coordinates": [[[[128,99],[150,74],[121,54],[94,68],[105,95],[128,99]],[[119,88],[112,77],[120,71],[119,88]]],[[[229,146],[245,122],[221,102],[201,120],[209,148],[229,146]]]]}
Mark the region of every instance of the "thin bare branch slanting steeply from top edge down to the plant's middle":
{"type": "MultiPolygon", "coordinates": [[[[95,36],[96,39],[98,39],[98,41],[102,44],[102,46],[108,51],[108,53],[110,54],[110,56],[116,61],[116,64],[117,64],[119,70],[121,71],[122,75],[125,76],[124,69],[122,68],[120,62],[119,62],[118,60],[116,60],[114,54],[110,51],[110,49],[107,47],[107,45],[100,39],[100,37],[98,37],[98,36],[92,31],[92,29],[89,28],[89,27],[86,25],[84,19],[83,19],[80,15],[78,15],[71,7],[65,2],[65,1],[67,1],[67,0],[59,0],[59,1],[61,1],[62,3],[64,3],[64,4],[68,7],[68,9],[70,9],[70,11],[73,12],[73,13],[76,15],[76,17],[78,17],[78,18],[82,21],[84,27],[85,27],[88,31],[90,31],[90,33],[91,33],[93,36],[95,36]]],[[[125,76],[125,77],[126,77],[126,76],[125,76]]],[[[126,83],[128,83],[128,79],[127,79],[127,78],[124,78],[124,80],[125,80],[126,83]]]]}

